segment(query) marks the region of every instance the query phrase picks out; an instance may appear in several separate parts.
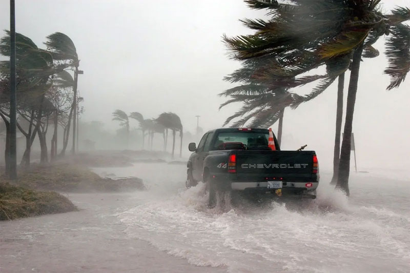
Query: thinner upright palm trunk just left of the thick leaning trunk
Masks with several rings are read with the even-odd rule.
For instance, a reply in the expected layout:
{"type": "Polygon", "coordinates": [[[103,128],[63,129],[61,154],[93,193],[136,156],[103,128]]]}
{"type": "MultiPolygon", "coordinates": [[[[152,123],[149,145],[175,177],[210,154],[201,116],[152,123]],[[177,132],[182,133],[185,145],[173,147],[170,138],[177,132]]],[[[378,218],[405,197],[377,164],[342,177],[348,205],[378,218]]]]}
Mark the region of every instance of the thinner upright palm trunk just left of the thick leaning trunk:
{"type": "Polygon", "coordinates": [[[330,182],[332,185],[336,185],[337,174],[339,172],[340,134],[342,131],[342,121],[343,121],[343,89],[344,89],[344,72],[339,75],[339,83],[337,86],[336,133],[335,133],[335,148],[333,152],[333,178],[332,178],[332,181],[330,182]]]}

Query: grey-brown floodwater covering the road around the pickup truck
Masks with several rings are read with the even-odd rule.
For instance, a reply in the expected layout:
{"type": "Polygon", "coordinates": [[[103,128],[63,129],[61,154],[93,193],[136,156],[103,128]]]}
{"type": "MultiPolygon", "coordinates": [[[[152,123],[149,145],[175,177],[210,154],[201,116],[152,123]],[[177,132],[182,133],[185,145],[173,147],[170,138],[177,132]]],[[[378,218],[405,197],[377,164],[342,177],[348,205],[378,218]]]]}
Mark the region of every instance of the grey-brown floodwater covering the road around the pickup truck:
{"type": "Polygon", "coordinates": [[[0,223],[1,272],[410,272],[410,181],[352,173],[346,198],[322,173],[313,201],[208,209],[184,165],[95,170],[148,190],[70,194],[83,210],[0,223]]]}

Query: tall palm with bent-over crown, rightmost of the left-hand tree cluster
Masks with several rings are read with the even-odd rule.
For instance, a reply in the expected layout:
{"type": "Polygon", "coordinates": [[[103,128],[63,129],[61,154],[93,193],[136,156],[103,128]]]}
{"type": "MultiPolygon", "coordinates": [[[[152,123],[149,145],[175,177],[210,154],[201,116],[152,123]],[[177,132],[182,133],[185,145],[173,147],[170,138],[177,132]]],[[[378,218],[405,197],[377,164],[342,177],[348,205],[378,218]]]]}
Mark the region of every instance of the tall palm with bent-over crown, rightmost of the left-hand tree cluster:
{"type": "Polygon", "coordinates": [[[54,60],[67,61],[68,65],[74,68],[74,86],[73,86],[73,147],[75,152],[75,130],[77,129],[77,83],[78,83],[78,66],[79,60],[77,50],[71,38],[64,33],[55,32],[47,36],[47,42],[44,43],[47,49],[52,53],[54,60]]]}

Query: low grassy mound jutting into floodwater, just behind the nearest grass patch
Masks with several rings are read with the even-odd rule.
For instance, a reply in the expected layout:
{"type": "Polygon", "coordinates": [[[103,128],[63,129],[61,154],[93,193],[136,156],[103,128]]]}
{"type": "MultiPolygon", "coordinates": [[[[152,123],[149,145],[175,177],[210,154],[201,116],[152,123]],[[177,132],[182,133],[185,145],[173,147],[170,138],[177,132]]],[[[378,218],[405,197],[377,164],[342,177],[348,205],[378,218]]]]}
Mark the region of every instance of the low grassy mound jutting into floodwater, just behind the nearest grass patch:
{"type": "Polygon", "coordinates": [[[139,178],[101,178],[87,167],[68,164],[32,164],[26,171],[19,171],[17,184],[36,190],[63,192],[112,192],[145,189],[139,178]]]}

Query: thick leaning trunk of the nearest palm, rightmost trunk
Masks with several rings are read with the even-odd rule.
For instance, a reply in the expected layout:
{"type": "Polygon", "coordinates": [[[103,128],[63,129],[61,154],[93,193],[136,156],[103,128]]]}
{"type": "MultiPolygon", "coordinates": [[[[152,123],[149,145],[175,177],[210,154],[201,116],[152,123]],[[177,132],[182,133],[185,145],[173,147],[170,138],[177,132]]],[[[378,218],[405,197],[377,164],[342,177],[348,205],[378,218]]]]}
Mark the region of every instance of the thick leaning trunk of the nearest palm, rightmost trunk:
{"type": "Polygon", "coordinates": [[[344,132],[342,149],[340,151],[339,173],[336,188],[341,189],[350,195],[349,191],[349,172],[350,172],[350,152],[353,126],[353,113],[355,110],[357,84],[359,82],[360,61],[363,52],[363,44],[360,45],[353,55],[352,71],[350,74],[350,83],[347,93],[346,118],[344,121],[344,132]]]}

